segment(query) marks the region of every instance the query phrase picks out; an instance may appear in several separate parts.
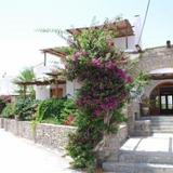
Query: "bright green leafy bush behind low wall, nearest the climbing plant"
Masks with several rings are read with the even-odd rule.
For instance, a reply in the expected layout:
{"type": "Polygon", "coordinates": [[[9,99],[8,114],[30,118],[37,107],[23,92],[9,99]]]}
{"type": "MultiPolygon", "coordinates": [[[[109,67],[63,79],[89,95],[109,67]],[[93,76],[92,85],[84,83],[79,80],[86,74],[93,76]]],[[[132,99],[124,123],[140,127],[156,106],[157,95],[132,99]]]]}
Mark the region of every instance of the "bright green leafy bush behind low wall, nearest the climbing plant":
{"type": "Polygon", "coordinates": [[[64,109],[65,98],[50,98],[39,104],[37,118],[39,122],[62,123],[64,118],[62,110],[64,109]]]}

